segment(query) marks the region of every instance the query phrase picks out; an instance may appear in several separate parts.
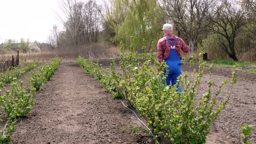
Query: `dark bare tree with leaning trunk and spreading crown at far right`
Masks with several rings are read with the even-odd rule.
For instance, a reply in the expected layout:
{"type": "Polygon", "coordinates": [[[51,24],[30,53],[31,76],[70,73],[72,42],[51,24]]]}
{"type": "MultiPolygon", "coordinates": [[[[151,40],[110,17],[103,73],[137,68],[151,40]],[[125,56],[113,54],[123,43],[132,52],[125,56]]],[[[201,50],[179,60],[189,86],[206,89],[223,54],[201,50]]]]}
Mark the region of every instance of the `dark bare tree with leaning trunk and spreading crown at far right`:
{"type": "Polygon", "coordinates": [[[222,0],[215,3],[215,7],[211,13],[207,13],[207,17],[211,22],[208,25],[212,33],[217,33],[227,41],[220,41],[218,45],[235,61],[236,57],[235,39],[241,31],[243,26],[248,23],[246,19],[247,7],[242,8],[240,4],[232,0],[222,0]]]}

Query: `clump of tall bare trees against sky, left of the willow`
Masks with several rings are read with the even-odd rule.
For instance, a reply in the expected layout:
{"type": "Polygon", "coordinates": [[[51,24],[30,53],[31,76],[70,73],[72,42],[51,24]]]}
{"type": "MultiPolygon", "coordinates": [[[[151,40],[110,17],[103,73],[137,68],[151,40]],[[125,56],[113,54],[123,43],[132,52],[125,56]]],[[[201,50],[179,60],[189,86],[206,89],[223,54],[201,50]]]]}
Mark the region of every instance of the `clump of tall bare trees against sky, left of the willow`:
{"type": "Polygon", "coordinates": [[[66,30],[65,34],[60,37],[56,32],[56,27],[53,28],[55,29],[54,39],[59,39],[58,41],[55,40],[56,45],[63,42],[61,39],[64,38],[63,36],[67,36],[64,38],[66,40],[72,39],[74,48],[78,45],[97,43],[102,27],[100,16],[102,8],[95,0],[89,0],[86,3],[76,0],[62,0],[59,4],[66,19],[62,18],[60,14],[58,17],[66,30]]]}

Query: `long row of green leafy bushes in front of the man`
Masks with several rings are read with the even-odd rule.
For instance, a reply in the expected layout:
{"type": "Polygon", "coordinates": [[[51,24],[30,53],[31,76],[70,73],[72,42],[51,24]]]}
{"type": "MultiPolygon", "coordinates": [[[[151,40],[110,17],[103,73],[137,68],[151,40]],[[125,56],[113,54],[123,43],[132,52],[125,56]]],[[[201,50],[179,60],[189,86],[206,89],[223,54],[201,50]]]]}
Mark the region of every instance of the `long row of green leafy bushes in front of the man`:
{"type": "MultiPolygon", "coordinates": [[[[191,75],[186,73],[178,78],[179,89],[184,88],[184,92],[181,92],[177,91],[176,85],[164,86],[163,80],[167,76],[163,72],[167,68],[165,62],[159,64],[151,57],[151,60],[141,63],[135,59],[134,53],[134,46],[131,44],[129,56],[125,58],[121,44],[121,72],[118,73],[115,72],[114,59],[111,59],[110,72],[108,69],[104,71],[98,62],[93,63],[82,57],[77,58],[77,63],[87,73],[94,75],[109,92],[112,92],[114,98],[124,97],[130,106],[136,108],[142,116],[146,117],[148,125],[156,135],[154,139],[160,137],[162,142],[168,144],[205,143],[211,124],[220,111],[225,108],[230,98],[230,95],[227,94],[221,103],[216,101],[228,81],[224,80],[217,91],[212,92],[211,87],[215,84],[210,78],[203,98],[195,103],[204,71],[205,62],[202,59],[199,61],[200,66],[197,72],[194,70],[191,75]],[[152,64],[158,70],[155,70],[152,64]]],[[[192,68],[193,59],[190,64],[192,68]]],[[[210,66],[210,76],[212,68],[213,65],[210,66]]],[[[232,85],[236,83],[235,68],[236,66],[234,66],[232,74],[232,85]]]]}

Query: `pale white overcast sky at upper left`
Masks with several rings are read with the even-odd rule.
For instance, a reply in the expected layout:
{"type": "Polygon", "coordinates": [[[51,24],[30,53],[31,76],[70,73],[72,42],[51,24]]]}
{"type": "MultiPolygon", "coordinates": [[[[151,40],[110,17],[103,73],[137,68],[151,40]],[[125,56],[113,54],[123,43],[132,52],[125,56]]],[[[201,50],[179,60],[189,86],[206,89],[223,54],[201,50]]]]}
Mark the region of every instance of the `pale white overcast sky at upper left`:
{"type": "Polygon", "coordinates": [[[58,0],[0,0],[0,43],[20,38],[46,42],[56,19],[58,0]]]}

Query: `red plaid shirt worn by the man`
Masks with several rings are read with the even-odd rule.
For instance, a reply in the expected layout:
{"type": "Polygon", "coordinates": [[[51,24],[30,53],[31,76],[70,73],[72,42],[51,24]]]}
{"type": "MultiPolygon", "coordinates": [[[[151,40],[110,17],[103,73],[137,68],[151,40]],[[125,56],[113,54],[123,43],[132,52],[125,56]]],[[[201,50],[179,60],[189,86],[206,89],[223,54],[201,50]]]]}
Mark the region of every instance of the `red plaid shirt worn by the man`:
{"type": "MultiPolygon", "coordinates": [[[[175,36],[173,34],[164,35],[164,37],[167,37],[170,40],[171,44],[174,45],[175,36]]],[[[171,52],[171,46],[169,45],[169,43],[167,42],[167,40],[164,37],[158,40],[157,60],[160,63],[164,59],[168,58],[168,56],[170,55],[170,52],[171,52]]],[[[186,45],[186,43],[183,41],[183,39],[177,37],[175,50],[176,50],[178,56],[180,56],[180,58],[182,59],[181,50],[183,52],[189,52],[189,47],[186,45]]]]}

